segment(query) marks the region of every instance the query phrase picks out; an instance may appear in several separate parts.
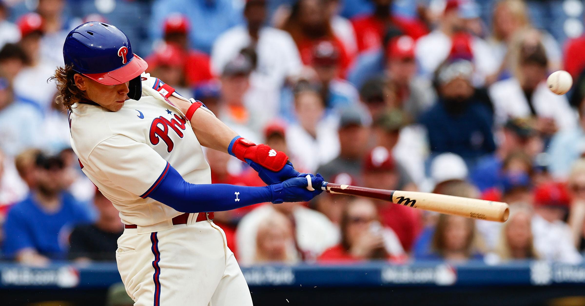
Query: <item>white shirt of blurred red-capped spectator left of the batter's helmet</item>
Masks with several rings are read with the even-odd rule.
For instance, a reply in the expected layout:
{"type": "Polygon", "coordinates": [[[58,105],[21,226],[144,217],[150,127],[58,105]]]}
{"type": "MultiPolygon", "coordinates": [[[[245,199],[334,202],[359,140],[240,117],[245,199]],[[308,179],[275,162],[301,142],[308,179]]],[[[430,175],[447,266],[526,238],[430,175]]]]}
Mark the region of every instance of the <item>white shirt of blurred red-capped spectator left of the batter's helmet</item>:
{"type": "Polygon", "coordinates": [[[16,100],[26,100],[39,106],[42,112],[49,109],[54,101],[57,86],[47,79],[55,73],[55,67],[44,61],[36,66],[23,68],[14,79],[14,95],[16,100]]]}

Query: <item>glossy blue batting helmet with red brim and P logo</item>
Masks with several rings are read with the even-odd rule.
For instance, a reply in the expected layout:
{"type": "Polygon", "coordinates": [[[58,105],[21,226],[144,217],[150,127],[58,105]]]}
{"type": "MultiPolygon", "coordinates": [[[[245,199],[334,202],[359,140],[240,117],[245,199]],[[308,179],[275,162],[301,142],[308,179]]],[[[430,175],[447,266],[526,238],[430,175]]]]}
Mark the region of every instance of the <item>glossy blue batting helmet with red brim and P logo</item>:
{"type": "Polygon", "coordinates": [[[75,27],[65,39],[63,59],[74,71],[104,85],[132,81],[128,96],[140,98],[140,74],[148,64],[132,53],[130,40],[118,27],[97,21],[75,27]]]}

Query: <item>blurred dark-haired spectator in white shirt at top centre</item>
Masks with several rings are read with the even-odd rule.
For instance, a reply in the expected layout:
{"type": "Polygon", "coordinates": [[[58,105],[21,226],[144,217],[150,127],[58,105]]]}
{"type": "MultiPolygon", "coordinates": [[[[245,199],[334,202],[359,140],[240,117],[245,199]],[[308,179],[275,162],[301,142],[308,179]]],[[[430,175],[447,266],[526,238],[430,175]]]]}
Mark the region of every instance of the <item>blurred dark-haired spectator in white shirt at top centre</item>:
{"type": "MultiPolygon", "coordinates": [[[[215,40],[211,62],[215,74],[221,75],[225,65],[242,49],[255,51],[257,59],[250,75],[250,91],[261,104],[259,108],[276,114],[280,88],[288,79],[301,73],[302,63],[292,37],[283,30],[266,26],[266,0],[246,1],[246,25],[232,27],[215,40]],[[270,95],[270,97],[261,97],[270,95]]],[[[259,103],[260,104],[260,103],[259,103]]]]}

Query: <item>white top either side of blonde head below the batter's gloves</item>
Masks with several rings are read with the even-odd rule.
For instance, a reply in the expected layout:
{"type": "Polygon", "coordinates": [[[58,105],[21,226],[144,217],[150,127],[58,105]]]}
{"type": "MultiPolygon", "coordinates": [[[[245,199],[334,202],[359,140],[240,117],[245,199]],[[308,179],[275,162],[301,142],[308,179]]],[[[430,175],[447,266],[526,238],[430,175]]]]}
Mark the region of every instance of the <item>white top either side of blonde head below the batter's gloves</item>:
{"type": "MultiPolygon", "coordinates": [[[[263,205],[249,212],[240,221],[236,231],[236,243],[238,243],[238,262],[242,266],[254,262],[259,222],[273,211],[273,205],[263,205]]],[[[298,246],[309,256],[321,255],[328,247],[339,242],[339,229],[321,212],[299,205],[292,214],[296,223],[295,234],[298,246]]]]}

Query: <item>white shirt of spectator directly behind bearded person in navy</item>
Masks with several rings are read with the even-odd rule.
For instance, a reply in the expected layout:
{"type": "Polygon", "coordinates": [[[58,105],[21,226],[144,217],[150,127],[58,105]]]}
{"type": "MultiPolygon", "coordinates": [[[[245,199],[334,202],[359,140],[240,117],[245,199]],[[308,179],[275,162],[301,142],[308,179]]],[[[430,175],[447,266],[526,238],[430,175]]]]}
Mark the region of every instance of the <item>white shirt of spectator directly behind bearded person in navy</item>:
{"type": "MultiPolygon", "coordinates": [[[[449,56],[451,46],[450,37],[441,30],[434,30],[418,39],[415,56],[424,77],[432,78],[436,68],[449,56]]],[[[470,47],[473,53],[473,64],[476,67],[473,82],[475,85],[483,85],[487,75],[498,70],[498,63],[494,60],[490,47],[483,39],[474,36],[470,47]]]]}

